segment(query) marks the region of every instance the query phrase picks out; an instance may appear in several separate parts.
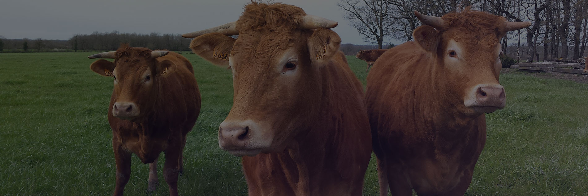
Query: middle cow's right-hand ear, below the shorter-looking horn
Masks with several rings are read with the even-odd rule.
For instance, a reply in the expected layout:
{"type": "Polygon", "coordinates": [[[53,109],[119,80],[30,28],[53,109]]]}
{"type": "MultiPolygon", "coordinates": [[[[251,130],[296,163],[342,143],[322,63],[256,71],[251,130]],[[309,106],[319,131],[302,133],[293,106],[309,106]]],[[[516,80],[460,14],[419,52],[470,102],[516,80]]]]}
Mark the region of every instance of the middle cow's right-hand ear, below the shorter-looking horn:
{"type": "Polygon", "coordinates": [[[319,28],[308,39],[310,60],[313,63],[329,61],[339,51],[341,38],[333,30],[319,28]]]}

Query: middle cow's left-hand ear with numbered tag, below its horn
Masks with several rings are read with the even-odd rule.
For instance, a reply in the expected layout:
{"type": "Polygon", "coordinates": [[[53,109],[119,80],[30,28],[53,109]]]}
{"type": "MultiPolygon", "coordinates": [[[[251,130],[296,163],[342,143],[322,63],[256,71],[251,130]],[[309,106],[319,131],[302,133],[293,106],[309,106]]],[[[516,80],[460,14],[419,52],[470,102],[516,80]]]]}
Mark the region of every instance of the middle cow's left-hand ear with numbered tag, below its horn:
{"type": "Polygon", "coordinates": [[[190,43],[190,49],[202,58],[219,67],[229,67],[230,50],[235,39],[220,33],[206,33],[196,37],[190,43]]]}

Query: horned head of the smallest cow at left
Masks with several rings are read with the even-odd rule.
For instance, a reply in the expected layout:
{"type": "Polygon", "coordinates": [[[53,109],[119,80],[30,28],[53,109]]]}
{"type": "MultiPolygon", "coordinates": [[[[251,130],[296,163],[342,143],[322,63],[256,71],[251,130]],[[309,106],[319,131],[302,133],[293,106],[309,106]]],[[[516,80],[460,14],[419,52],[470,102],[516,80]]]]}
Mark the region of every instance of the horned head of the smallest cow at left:
{"type": "Polygon", "coordinates": [[[90,69],[100,75],[113,77],[112,116],[130,121],[141,120],[144,114],[152,111],[158,80],[172,73],[176,65],[170,60],[157,61],[156,58],[168,51],[151,51],[144,47],[121,46],[116,51],[89,56],[94,61],[90,69]],[[114,59],[114,62],[104,60],[114,59]]]}

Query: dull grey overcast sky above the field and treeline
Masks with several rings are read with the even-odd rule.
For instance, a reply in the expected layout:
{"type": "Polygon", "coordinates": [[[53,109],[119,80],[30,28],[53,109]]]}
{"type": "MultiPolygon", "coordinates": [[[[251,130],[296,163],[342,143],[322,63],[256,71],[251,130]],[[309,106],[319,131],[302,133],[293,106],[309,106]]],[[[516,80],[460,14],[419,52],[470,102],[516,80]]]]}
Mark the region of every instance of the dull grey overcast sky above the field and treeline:
{"type": "MultiPolygon", "coordinates": [[[[343,19],[339,0],[275,0],[339,22],[342,43],[370,44],[343,19]]],[[[188,33],[235,21],[249,0],[66,1],[0,0],[0,35],[6,39],[62,39],[76,33],[188,33]]],[[[384,40],[390,42],[390,40],[384,40]]],[[[399,44],[399,43],[394,43],[399,44]]]]}

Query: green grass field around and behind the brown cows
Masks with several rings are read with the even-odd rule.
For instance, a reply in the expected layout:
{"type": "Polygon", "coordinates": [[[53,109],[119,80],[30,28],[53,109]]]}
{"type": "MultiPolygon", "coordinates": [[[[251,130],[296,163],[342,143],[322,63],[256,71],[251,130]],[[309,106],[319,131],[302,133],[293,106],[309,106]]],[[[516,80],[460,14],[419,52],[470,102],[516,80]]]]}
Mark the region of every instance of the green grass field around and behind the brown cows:
{"type": "MultiPolygon", "coordinates": [[[[91,53],[0,54],[0,195],[108,195],[115,182],[106,121],[112,78],[93,73],[91,53]]],[[[202,110],[188,134],[184,195],[245,195],[239,157],[218,147],[232,105],[230,71],[195,54],[202,110]]],[[[365,84],[365,62],[348,56],[365,84]]],[[[488,139],[469,195],[587,195],[588,84],[502,74],[507,106],[487,115],[488,139]]],[[[133,156],[126,195],[145,195],[148,165],[133,156]]],[[[167,195],[159,161],[159,189],[167,195]]],[[[377,195],[375,159],[365,195],[377,195]]]]}

